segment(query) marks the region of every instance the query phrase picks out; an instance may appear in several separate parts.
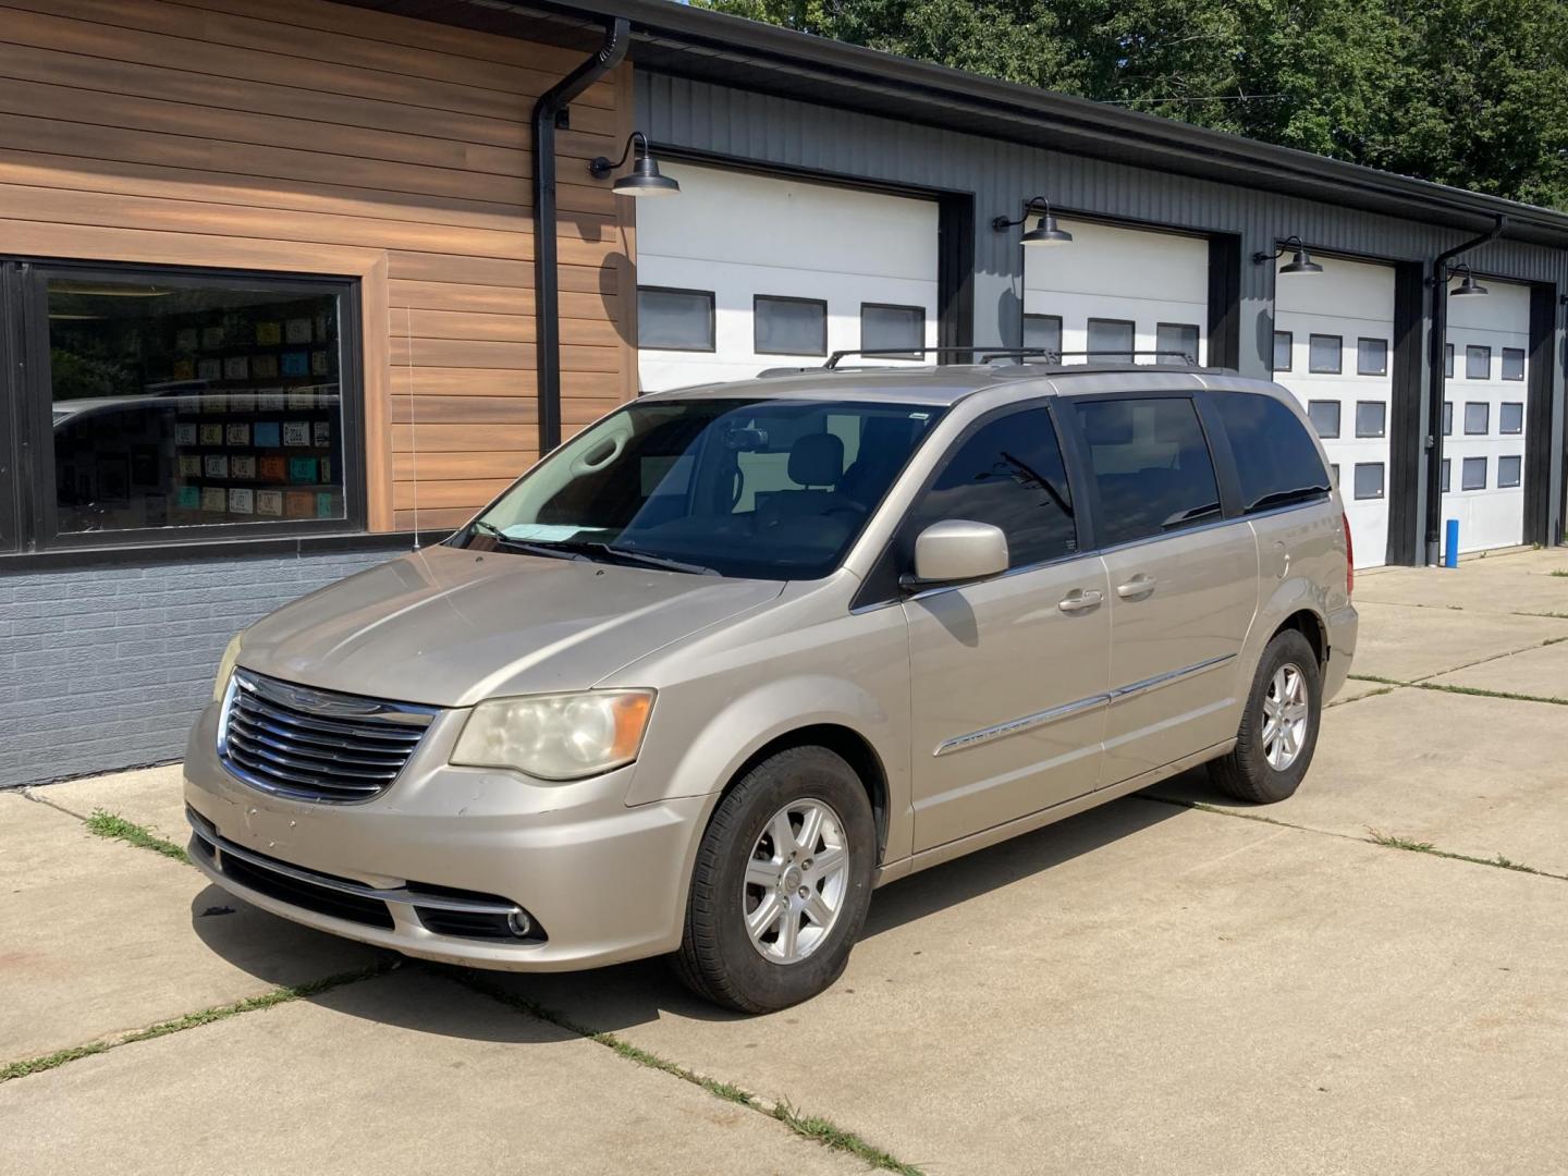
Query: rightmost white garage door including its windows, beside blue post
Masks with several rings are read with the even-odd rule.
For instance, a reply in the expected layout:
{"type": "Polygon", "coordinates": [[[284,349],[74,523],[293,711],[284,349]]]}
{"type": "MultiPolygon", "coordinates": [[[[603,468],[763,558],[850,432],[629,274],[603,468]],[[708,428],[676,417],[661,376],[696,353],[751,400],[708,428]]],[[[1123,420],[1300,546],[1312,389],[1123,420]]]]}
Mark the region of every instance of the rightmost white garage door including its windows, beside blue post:
{"type": "Polygon", "coordinates": [[[1483,282],[1485,298],[1449,298],[1443,405],[1443,517],[1460,550],[1524,541],[1527,285],[1483,282]]]}

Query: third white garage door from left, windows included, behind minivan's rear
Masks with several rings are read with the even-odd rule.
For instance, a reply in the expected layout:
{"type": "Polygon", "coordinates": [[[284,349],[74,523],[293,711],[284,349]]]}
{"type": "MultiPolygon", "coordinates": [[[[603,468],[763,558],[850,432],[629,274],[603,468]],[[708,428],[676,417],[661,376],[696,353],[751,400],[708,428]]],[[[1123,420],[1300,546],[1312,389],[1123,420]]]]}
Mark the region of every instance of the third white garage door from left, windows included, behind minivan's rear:
{"type": "MultiPolygon", "coordinates": [[[[1394,270],[1319,257],[1317,274],[1275,274],[1275,379],[1306,406],[1350,519],[1358,568],[1388,558],[1394,270]]],[[[1287,265],[1286,254],[1279,265],[1287,265]]]]}

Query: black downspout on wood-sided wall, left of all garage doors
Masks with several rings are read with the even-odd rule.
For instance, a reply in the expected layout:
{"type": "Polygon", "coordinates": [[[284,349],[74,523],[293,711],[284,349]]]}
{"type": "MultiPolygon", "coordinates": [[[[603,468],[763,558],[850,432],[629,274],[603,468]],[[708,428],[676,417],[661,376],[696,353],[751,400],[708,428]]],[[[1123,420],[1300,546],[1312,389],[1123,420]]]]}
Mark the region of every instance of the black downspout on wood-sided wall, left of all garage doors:
{"type": "Polygon", "coordinates": [[[561,444],[561,315],[555,241],[555,119],[626,56],[630,25],[607,20],[604,44],[533,103],[533,314],[539,456],[561,444]]]}

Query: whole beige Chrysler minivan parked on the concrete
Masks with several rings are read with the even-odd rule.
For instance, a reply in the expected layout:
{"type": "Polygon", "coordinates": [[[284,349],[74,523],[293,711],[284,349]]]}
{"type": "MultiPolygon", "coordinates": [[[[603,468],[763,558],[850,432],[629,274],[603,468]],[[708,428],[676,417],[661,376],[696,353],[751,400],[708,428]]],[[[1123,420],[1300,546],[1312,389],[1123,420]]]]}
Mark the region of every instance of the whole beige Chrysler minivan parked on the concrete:
{"type": "Polygon", "coordinates": [[[844,971],[877,886],[1196,764],[1289,797],[1350,591],[1275,384],[982,364],[644,395],[235,638],[191,850],[411,956],[671,953],[781,1008],[844,971]]]}

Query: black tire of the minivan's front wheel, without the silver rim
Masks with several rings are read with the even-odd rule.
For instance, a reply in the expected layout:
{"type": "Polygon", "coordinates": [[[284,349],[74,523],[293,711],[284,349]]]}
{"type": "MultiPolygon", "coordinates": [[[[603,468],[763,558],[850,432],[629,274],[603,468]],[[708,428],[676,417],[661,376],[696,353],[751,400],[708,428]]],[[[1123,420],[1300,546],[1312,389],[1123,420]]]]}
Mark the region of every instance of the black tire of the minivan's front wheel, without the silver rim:
{"type": "Polygon", "coordinates": [[[877,823],[866,787],[833,751],[792,748],[746,773],[720,803],[724,806],[729,820],[709,825],[706,851],[698,853],[698,870],[710,873],[702,881],[710,883],[713,903],[706,916],[693,911],[688,935],[710,936],[718,947],[723,977],[707,980],[732,1002],[754,1011],[800,1004],[839,978],[866,922],[877,869],[877,823]],[[820,800],[839,815],[850,847],[850,878],[839,919],[822,946],[804,960],[778,964],[751,944],[740,895],[746,861],[764,828],[781,808],[801,800],[820,800]]]}

